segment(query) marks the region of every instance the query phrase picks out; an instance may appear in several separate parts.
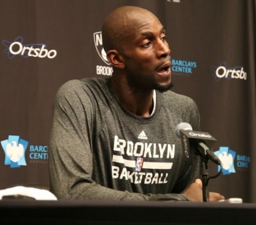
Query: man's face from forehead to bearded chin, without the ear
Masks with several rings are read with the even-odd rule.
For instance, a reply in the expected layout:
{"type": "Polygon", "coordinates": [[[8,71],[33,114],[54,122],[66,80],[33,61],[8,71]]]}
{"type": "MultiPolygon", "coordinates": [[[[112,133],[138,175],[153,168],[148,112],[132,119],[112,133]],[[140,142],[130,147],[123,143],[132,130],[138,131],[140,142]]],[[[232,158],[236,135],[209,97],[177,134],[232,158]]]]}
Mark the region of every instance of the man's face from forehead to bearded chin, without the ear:
{"type": "Polygon", "coordinates": [[[154,16],[141,15],[121,41],[127,82],[135,89],[172,87],[170,49],[163,25],[154,16]]]}

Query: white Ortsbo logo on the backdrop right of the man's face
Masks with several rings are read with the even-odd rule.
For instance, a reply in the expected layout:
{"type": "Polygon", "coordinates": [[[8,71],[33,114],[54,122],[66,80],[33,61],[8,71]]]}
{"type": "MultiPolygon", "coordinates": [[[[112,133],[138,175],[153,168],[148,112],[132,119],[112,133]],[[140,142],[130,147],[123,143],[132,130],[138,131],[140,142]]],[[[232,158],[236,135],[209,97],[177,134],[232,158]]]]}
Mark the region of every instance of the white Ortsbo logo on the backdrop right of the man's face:
{"type": "Polygon", "coordinates": [[[243,66],[227,67],[225,61],[221,62],[219,66],[211,66],[211,70],[215,81],[220,81],[221,79],[240,79],[246,81],[247,79],[247,73],[244,72],[243,66]]]}

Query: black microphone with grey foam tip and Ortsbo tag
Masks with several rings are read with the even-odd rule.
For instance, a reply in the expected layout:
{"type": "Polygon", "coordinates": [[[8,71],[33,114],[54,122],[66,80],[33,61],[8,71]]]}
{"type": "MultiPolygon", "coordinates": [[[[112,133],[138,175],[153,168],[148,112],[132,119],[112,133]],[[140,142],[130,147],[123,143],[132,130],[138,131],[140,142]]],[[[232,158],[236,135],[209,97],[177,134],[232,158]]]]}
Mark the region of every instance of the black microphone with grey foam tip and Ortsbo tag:
{"type": "Polygon", "coordinates": [[[211,148],[208,146],[212,141],[216,141],[216,139],[209,133],[193,131],[189,123],[179,123],[175,128],[175,134],[182,140],[182,148],[184,150],[184,154],[188,160],[190,160],[190,162],[190,149],[195,147],[196,150],[199,151],[200,155],[202,155],[202,157],[209,159],[218,165],[221,165],[221,160],[212,152],[211,148]]]}

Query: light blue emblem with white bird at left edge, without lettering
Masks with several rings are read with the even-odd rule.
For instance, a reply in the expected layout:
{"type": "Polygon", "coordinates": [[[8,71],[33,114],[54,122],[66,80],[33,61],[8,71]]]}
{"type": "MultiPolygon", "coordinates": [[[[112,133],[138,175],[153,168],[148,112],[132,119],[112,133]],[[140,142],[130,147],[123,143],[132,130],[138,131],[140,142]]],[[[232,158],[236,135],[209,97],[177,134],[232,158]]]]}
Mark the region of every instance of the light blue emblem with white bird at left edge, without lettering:
{"type": "Polygon", "coordinates": [[[28,147],[28,141],[19,136],[8,136],[8,139],[1,141],[5,153],[4,165],[10,165],[11,168],[27,166],[25,152],[28,147]]]}

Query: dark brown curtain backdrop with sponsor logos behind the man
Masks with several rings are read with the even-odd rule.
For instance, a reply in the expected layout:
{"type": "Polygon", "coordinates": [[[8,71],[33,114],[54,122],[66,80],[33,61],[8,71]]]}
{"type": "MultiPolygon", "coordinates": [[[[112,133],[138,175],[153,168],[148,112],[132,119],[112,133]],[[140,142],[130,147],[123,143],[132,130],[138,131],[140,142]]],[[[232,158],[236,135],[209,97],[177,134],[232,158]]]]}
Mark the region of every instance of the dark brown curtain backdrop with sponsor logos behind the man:
{"type": "Polygon", "coordinates": [[[255,0],[0,1],[0,189],[49,184],[56,91],[111,75],[101,26],[124,5],[150,10],[167,29],[173,91],[195,100],[201,130],[217,139],[224,169],[209,189],[256,202],[255,0]]]}

